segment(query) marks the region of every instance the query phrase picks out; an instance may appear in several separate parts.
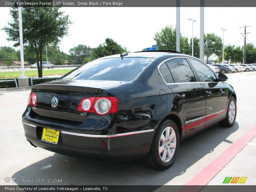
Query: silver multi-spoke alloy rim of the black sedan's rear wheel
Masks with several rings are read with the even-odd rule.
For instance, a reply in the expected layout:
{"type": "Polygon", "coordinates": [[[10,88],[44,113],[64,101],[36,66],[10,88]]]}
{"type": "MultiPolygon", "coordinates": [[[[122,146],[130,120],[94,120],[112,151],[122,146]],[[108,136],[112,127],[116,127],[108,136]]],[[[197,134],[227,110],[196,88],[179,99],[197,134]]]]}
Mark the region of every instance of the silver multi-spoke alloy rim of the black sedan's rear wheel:
{"type": "Polygon", "coordinates": [[[164,163],[171,161],[176,148],[176,134],[172,127],[166,127],[159,141],[159,156],[164,163]]]}

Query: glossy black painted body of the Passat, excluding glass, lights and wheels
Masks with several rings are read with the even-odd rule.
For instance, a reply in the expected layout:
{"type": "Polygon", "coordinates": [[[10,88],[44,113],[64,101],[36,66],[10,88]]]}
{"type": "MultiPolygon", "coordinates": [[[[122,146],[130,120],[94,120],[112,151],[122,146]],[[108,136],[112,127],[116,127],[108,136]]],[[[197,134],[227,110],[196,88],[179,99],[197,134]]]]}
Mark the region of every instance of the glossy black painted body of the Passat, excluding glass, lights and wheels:
{"type": "MultiPolygon", "coordinates": [[[[149,57],[148,53],[135,55],[149,57]]],[[[103,59],[111,57],[113,56],[103,59]]],[[[56,80],[34,85],[32,92],[38,95],[44,94],[38,96],[37,107],[26,108],[22,115],[23,122],[36,126],[34,128],[23,124],[27,140],[34,146],[65,155],[115,160],[143,158],[150,150],[157,127],[165,118],[172,118],[178,125],[181,139],[225,118],[228,100],[232,95],[235,96],[232,86],[225,82],[167,85],[157,70],[158,65],[169,58],[189,56],[151,52],[150,57],[156,59],[132,82],[101,82],[99,84],[99,81],[56,80]],[[84,87],[85,84],[86,87],[84,87]],[[207,90],[212,93],[207,95],[205,93],[207,90]],[[177,94],[186,96],[181,100],[176,97],[177,94]],[[76,110],[78,102],[89,95],[117,97],[117,114],[81,115],[82,113],[76,110]],[[50,107],[53,96],[62,100],[58,110],[50,107]],[[65,102],[67,97],[72,97],[72,102],[65,102]],[[208,112],[196,111],[197,108],[204,108],[204,106],[212,109],[208,112]],[[47,108],[49,110],[46,110],[47,108]],[[186,114],[193,110],[196,111],[195,114],[186,114]],[[223,110],[224,112],[218,114],[223,110]],[[216,112],[217,116],[207,118],[209,117],[207,114],[216,112]],[[200,116],[205,117],[197,119],[200,116]],[[153,129],[154,131],[113,138],[80,137],[60,133],[59,144],[54,145],[41,141],[43,127],[99,136],[153,129]]],[[[196,76],[197,81],[198,79],[199,77],[196,76]]]]}

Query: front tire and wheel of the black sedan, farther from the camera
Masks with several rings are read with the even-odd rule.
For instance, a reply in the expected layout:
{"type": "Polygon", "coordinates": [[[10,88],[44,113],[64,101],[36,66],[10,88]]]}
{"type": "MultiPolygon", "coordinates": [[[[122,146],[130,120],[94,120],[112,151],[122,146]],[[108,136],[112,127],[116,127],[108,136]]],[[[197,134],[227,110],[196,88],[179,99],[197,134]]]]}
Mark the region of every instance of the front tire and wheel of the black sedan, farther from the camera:
{"type": "Polygon", "coordinates": [[[236,100],[231,97],[228,102],[228,111],[226,118],[219,122],[223,127],[231,127],[236,121],[236,100]]]}

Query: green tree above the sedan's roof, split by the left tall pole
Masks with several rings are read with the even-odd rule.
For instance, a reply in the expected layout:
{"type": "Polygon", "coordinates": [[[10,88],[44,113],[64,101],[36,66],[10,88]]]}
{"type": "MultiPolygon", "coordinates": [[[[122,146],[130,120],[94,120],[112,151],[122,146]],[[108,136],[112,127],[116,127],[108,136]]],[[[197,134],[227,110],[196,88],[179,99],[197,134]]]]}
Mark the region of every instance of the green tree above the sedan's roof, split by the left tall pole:
{"type": "MultiPolygon", "coordinates": [[[[159,47],[159,50],[176,50],[176,28],[165,26],[161,32],[157,32],[153,38],[159,47]]],[[[180,34],[180,52],[188,54],[188,38],[180,34]]]]}

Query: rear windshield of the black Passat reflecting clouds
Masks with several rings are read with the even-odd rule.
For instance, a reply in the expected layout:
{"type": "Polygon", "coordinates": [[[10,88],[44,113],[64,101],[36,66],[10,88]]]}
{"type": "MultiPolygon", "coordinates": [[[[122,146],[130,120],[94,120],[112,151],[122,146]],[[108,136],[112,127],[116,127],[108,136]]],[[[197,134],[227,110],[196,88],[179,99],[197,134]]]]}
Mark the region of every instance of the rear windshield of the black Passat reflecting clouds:
{"type": "Polygon", "coordinates": [[[106,81],[132,81],[154,59],[152,58],[110,58],[86,63],[60,79],[84,79],[106,81]]]}

